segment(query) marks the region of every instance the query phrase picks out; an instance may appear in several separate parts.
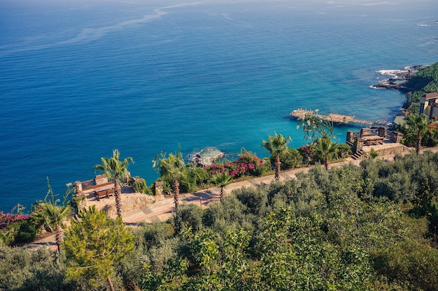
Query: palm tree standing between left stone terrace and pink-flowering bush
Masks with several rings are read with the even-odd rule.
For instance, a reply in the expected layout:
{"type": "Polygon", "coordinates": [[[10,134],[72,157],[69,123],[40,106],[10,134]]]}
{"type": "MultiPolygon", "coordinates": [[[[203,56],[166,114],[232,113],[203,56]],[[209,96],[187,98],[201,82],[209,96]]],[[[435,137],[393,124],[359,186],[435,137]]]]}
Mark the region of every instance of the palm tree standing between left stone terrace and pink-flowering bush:
{"type": "Polygon", "coordinates": [[[172,188],[174,188],[174,203],[175,210],[178,209],[179,204],[179,179],[185,175],[185,162],[183,154],[181,153],[181,147],[178,148],[176,154],[169,154],[166,158],[166,154],[162,152],[155,156],[153,160],[153,167],[161,174],[161,177],[171,181],[172,188]]]}

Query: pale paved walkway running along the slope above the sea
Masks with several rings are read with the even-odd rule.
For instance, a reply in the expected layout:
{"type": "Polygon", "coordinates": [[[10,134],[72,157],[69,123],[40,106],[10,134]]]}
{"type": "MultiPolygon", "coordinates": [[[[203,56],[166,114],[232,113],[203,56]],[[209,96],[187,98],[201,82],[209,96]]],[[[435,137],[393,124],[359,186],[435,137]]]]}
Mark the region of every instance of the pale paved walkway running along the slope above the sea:
{"type": "MultiPolygon", "coordinates": [[[[425,149],[428,151],[437,152],[438,147],[425,149]]],[[[384,159],[386,161],[393,161],[395,155],[387,155],[387,156],[379,156],[377,158],[384,159]]],[[[346,165],[348,163],[353,163],[355,165],[359,165],[362,160],[353,160],[353,158],[347,158],[346,161],[339,163],[332,163],[330,167],[341,167],[342,165],[346,165]]],[[[323,165],[321,165],[323,167],[323,165]]],[[[281,181],[286,181],[288,179],[294,179],[295,174],[298,172],[307,172],[310,167],[301,167],[297,169],[287,170],[281,172],[281,181]]],[[[246,181],[240,181],[236,183],[229,184],[225,188],[225,195],[232,193],[235,189],[240,189],[242,187],[255,187],[258,188],[262,185],[268,185],[274,181],[274,175],[269,175],[265,177],[255,177],[253,179],[248,179],[246,181]]],[[[198,191],[195,193],[181,193],[180,194],[180,204],[199,204],[202,209],[206,209],[209,207],[209,204],[213,201],[220,200],[220,188],[213,187],[209,189],[204,189],[202,191],[198,191]]],[[[175,210],[174,206],[174,197],[169,195],[164,197],[162,200],[158,200],[153,204],[150,204],[146,207],[141,207],[139,209],[134,209],[131,211],[127,211],[122,214],[123,221],[127,225],[136,225],[139,222],[145,223],[155,223],[155,222],[163,222],[167,221],[173,215],[175,210]]],[[[55,244],[55,235],[51,235],[49,237],[45,237],[44,239],[40,239],[38,241],[34,241],[31,244],[27,245],[28,248],[37,248],[39,246],[51,246],[52,248],[56,248],[55,244]]]]}

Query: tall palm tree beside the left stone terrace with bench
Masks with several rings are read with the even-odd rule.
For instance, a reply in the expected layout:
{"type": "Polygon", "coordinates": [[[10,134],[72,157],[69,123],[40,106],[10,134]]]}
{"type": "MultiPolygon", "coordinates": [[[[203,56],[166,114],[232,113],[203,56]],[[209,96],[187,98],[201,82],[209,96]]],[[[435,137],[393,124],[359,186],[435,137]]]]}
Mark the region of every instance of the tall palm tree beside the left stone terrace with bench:
{"type": "Polygon", "coordinates": [[[134,160],[129,156],[125,160],[120,161],[120,152],[118,149],[113,149],[112,158],[101,158],[101,165],[95,165],[95,170],[101,170],[106,174],[108,179],[114,180],[114,196],[115,196],[115,209],[117,216],[122,217],[122,198],[120,197],[120,182],[126,181],[128,176],[128,164],[134,163],[134,160]]]}

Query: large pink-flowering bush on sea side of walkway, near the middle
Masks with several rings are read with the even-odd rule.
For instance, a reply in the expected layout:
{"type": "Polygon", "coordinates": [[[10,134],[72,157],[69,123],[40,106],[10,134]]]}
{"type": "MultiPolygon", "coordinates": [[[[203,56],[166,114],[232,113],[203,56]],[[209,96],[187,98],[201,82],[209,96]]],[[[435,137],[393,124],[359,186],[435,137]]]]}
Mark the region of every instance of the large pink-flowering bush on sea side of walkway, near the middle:
{"type": "Polygon", "coordinates": [[[230,174],[234,179],[237,179],[243,176],[261,176],[266,172],[267,167],[255,154],[250,151],[242,151],[236,161],[213,163],[207,166],[206,170],[211,172],[211,174],[227,172],[227,174],[230,174]]]}

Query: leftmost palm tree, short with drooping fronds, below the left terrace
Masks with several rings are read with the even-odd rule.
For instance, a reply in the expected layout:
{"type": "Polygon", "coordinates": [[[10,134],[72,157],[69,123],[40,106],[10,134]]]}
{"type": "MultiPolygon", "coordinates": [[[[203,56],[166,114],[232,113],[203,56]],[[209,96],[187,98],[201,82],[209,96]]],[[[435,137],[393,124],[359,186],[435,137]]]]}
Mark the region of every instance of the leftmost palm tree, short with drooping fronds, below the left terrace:
{"type": "MultiPolygon", "coordinates": [[[[50,232],[55,232],[55,241],[59,253],[62,243],[62,228],[65,228],[64,220],[69,216],[71,207],[69,203],[66,203],[65,199],[64,203],[58,206],[57,202],[59,202],[59,199],[55,200],[55,195],[53,194],[52,186],[50,186],[48,178],[47,184],[49,188],[48,193],[45,195],[44,201],[37,206],[36,216],[43,221],[45,228],[50,230],[50,232]]],[[[64,198],[67,197],[70,192],[71,189],[67,187],[64,198]]]]}

